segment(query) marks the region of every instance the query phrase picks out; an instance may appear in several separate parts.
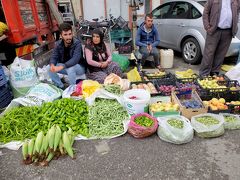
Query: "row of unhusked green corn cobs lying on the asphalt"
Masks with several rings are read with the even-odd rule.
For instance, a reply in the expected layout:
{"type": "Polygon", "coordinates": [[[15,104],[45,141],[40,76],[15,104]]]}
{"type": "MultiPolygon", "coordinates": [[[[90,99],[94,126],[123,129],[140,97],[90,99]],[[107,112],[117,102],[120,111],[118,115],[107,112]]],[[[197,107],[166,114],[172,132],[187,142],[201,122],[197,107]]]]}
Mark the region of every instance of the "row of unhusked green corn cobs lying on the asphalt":
{"type": "Polygon", "coordinates": [[[53,157],[66,153],[73,156],[74,134],[71,128],[62,133],[58,125],[53,125],[46,135],[40,131],[36,139],[25,141],[22,146],[23,163],[48,166],[53,157]]]}

